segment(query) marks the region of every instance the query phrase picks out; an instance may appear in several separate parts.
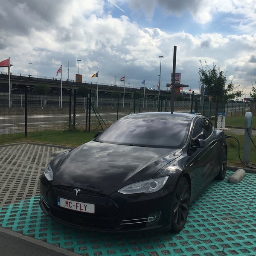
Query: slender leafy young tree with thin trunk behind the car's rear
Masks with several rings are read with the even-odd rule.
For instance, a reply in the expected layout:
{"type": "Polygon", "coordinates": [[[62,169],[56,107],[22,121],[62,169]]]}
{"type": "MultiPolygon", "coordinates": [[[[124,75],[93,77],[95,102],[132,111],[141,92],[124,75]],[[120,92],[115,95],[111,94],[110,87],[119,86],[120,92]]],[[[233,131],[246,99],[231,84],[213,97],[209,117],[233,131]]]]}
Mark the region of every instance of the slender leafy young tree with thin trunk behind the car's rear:
{"type": "Polygon", "coordinates": [[[233,80],[227,83],[226,73],[220,71],[220,67],[212,63],[212,68],[205,61],[205,67],[200,60],[201,67],[199,68],[200,82],[207,90],[207,94],[212,96],[212,101],[215,102],[215,127],[217,127],[218,118],[218,103],[225,102],[235,97],[241,97],[241,91],[234,88],[233,80]]]}

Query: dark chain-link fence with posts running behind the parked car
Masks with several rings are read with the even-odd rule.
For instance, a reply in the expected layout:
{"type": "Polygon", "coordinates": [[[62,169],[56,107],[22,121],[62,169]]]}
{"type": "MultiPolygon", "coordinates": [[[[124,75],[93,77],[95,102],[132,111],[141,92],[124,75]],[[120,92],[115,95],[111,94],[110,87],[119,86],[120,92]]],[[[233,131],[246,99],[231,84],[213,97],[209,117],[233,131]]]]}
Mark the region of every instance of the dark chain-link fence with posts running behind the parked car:
{"type": "MultiPolygon", "coordinates": [[[[67,96],[39,96],[13,94],[0,94],[0,139],[5,136],[24,137],[30,132],[49,130],[104,130],[117,119],[130,113],[171,111],[171,100],[153,99],[124,99],[96,98],[90,94],[79,97],[76,90],[70,90],[67,96]],[[75,92],[75,93],[74,93],[75,92]],[[8,106],[11,105],[11,108],[8,106]]],[[[175,101],[175,112],[200,113],[212,120],[214,124],[215,104],[211,102],[175,101]]],[[[221,125],[217,128],[224,129],[225,134],[236,137],[240,142],[228,139],[229,151],[240,149],[243,157],[244,115],[250,111],[250,106],[244,102],[228,102],[218,105],[221,125]]],[[[251,132],[250,159],[256,163],[256,122],[253,120],[251,132]]],[[[239,163],[239,157],[237,162],[239,163]]]]}

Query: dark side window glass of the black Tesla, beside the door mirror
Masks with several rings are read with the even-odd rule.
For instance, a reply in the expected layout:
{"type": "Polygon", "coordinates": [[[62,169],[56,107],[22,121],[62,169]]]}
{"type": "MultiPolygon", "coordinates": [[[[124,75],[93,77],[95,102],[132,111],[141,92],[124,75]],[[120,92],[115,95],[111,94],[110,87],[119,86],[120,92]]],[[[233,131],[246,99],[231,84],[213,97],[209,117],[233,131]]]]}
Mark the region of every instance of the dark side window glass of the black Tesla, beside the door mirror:
{"type": "Polygon", "coordinates": [[[196,120],[194,128],[193,128],[193,133],[192,133],[192,146],[194,144],[195,139],[202,139],[206,140],[213,131],[213,125],[212,123],[205,118],[199,118],[196,120]]]}

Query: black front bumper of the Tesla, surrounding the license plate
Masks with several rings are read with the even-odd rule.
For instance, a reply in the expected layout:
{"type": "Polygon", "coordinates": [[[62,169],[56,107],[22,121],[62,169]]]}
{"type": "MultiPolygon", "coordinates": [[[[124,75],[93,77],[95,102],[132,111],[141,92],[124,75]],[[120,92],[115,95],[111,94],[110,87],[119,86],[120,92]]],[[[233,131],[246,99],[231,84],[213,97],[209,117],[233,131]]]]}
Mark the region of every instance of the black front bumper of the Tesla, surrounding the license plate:
{"type": "Polygon", "coordinates": [[[39,204],[43,212],[58,222],[85,230],[127,232],[170,229],[171,195],[163,194],[163,191],[140,196],[116,192],[112,197],[81,191],[79,197],[74,198],[72,189],[44,186],[41,183],[39,204]],[[84,203],[96,202],[95,214],[58,207],[58,196],[84,203]]]}

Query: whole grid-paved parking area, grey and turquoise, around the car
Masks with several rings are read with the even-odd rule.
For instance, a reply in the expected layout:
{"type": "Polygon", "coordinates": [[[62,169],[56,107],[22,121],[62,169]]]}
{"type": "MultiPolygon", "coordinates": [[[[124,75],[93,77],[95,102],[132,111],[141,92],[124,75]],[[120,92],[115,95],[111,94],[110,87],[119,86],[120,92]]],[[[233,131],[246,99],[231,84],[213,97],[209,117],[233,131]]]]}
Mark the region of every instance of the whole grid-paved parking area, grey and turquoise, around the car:
{"type": "Polygon", "coordinates": [[[84,256],[256,255],[256,173],[238,184],[212,181],[190,206],[185,228],[168,232],[103,233],[77,230],[44,215],[38,181],[52,152],[66,147],[0,146],[0,226],[84,256]]]}

